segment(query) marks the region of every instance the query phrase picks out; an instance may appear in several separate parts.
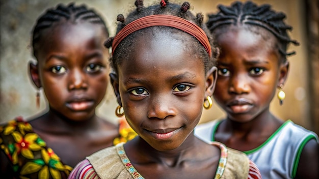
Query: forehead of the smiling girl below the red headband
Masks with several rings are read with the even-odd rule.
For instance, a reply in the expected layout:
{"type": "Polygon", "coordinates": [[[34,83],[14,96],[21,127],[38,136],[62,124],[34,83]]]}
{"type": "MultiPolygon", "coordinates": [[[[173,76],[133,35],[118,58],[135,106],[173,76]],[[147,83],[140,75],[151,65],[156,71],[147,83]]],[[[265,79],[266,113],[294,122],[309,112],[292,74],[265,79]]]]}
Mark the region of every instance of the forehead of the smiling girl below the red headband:
{"type": "Polygon", "coordinates": [[[183,40],[174,39],[165,33],[144,33],[135,38],[134,48],[118,66],[121,75],[134,73],[155,75],[157,78],[170,72],[182,73],[189,70],[204,74],[202,59],[192,50],[183,48],[192,37],[183,36],[183,40]]]}

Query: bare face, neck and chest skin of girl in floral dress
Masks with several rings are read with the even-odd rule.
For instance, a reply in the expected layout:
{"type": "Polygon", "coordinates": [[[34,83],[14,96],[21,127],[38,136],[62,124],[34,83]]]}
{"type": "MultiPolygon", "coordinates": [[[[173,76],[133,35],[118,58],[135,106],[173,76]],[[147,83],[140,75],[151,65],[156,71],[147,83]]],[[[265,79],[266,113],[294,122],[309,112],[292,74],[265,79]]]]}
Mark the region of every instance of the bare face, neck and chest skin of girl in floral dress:
{"type": "Polygon", "coordinates": [[[89,22],[59,22],[44,33],[30,74],[43,88],[49,110],[29,122],[62,162],[74,167],[112,146],[119,135],[116,125],[95,114],[109,82],[109,53],[102,45],[107,36],[101,25],[89,22]]]}

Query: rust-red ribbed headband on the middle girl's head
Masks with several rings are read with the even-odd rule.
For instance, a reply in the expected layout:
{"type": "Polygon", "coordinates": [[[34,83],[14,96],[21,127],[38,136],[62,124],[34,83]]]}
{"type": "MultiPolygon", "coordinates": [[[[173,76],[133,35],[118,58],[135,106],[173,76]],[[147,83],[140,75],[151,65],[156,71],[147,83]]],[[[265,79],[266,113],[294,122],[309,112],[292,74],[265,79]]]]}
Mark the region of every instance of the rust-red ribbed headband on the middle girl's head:
{"type": "Polygon", "coordinates": [[[140,29],[151,26],[169,26],[180,29],[181,31],[194,36],[205,47],[208,55],[211,56],[211,47],[203,29],[183,18],[164,14],[145,16],[127,24],[113,40],[112,55],[116,47],[126,36],[139,31],[140,29]]]}

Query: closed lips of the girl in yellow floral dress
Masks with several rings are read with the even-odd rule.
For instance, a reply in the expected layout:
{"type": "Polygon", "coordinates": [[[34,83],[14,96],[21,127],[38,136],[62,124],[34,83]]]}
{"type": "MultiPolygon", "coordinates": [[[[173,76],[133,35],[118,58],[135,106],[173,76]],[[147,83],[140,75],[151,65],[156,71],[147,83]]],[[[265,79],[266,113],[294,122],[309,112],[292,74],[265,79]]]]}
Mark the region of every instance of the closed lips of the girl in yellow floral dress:
{"type": "Polygon", "coordinates": [[[84,111],[92,108],[93,105],[94,101],[86,98],[74,98],[66,103],[66,106],[73,111],[84,111]]]}

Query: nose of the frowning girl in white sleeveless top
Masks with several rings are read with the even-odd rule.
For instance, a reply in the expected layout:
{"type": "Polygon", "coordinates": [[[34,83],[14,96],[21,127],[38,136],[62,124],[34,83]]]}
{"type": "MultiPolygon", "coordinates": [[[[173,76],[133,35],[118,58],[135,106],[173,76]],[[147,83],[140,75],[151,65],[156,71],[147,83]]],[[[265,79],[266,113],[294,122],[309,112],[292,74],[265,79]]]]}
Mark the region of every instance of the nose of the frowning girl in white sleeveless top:
{"type": "Polygon", "coordinates": [[[250,92],[249,77],[242,74],[232,75],[229,81],[230,94],[248,94],[250,92]]]}

